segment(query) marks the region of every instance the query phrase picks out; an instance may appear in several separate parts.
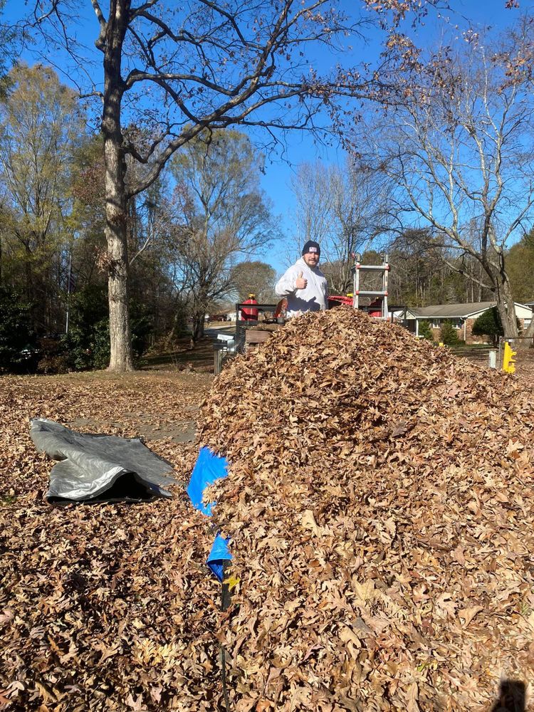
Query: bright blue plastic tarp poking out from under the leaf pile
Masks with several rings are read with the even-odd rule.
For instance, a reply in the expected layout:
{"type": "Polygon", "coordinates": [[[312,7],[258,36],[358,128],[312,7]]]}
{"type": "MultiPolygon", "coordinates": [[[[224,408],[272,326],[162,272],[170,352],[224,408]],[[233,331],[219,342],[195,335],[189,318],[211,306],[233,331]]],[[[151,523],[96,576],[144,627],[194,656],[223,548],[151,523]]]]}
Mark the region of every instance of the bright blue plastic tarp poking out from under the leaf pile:
{"type": "MultiPolygon", "coordinates": [[[[192,501],[194,508],[201,511],[203,514],[211,517],[214,502],[204,504],[204,490],[207,486],[228,476],[228,463],[224,457],[214,455],[207,447],[200,449],[197,462],[191,473],[191,479],[187,486],[187,494],[192,501]]],[[[225,539],[218,533],[211,547],[206,564],[209,570],[216,575],[219,581],[223,580],[223,562],[229,561],[232,557],[228,548],[229,539],[225,539]]]]}

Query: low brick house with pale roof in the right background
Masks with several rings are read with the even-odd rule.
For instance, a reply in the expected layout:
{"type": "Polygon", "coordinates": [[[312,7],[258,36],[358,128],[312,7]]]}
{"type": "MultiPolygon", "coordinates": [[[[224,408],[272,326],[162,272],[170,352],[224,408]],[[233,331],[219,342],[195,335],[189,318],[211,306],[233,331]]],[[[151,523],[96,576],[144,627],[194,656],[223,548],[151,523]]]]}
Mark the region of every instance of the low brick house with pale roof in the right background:
{"type": "MultiPolygon", "coordinates": [[[[434,340],[439,341],[441,325],[444,321],[452,322],[456,328],[459,340],[466,344],[486,343],[482,336],[473,336],[471,330],[478,317],[496,305],[496,302],[474,302],[468,304],[435,304],[429,307],[413,307],[406,310],[408,329],[419,335],[419,322],[428,321],[434,334],[434,340]]],[[[533,308],[515,302],[515,316],[521,329],[530,324],[533,308]]]]}

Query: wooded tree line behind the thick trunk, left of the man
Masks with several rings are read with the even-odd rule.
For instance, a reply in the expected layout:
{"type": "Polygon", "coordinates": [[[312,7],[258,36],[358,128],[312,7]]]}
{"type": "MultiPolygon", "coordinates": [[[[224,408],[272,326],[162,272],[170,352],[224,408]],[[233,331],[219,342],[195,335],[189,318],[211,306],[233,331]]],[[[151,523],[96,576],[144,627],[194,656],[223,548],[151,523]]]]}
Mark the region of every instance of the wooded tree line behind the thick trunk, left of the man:
{"type": "MultiPolygon", "coordinates": [[[[108,366],[103,149],[53,70],[11,70],[0,100],[0,368],[35,365],[37,347],[43,370],[108,366]]],[[[127,201],[135,357],[188,322],[201,337],[204,314],[258,270],[249,256],[276,237],[261,163],[243,134],[206,131],[127,201]]],[[[132,163],[127,175],[139,172],[132,163]]]]}

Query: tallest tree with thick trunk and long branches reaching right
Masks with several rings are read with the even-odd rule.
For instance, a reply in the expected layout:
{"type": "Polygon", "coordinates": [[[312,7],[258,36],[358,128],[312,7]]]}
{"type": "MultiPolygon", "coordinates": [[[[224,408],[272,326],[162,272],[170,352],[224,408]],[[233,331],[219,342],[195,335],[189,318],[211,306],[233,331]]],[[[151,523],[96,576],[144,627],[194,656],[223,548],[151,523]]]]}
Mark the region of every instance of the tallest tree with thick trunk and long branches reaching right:
{"type": "MultiPolygon", "coordinates": [[[[90,80],[87,52],[76,43],[76,13],[83,0],[33,0],[33,25],[46,43],[61,42],[90,80]]],[[[91,0],[98,20],[95,45],[103,54],[106,239],[110,300],[110,369],[132,368],[127,308],[126,206],[145,190],[167,159],[206,127],[259,128],[270,139],[290,129],[339,125],[338,100],[377,89],[377,74],[357,68],[321,73],[319,50],[339,53],[362,37],[372,15],[396,27],[407,11],[420,14],[437,0],[360,0],[345,13],[334,0],[91,0]],[[369,12],[371,11],[371,12],[369,12]],[[124,132],[125,117],[143,113],[154,141],[142,151],[124,132]],[[278,134],[276,132],[279,132],[278,134]],[[126,156],[150,165],[129,182],[126,156]]],[[[395,34],[389,43],[397,43],[395,34]]],[[[131,119],[130,119],[131,120],[131,119]]]]}

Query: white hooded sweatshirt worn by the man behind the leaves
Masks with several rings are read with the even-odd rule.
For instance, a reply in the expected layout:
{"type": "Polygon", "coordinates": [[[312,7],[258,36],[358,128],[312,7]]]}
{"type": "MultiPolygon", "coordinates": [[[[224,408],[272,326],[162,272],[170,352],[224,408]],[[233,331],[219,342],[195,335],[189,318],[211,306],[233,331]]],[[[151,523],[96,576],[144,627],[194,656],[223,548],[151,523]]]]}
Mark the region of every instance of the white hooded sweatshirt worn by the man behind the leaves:
{"type": "Polygon", "coordinates": [[[303,257],[283,274],[274,290],[279,297],[287,297],[288,318],[307,311],[319,311],[327,308],[326,277],[318,267],[308,267],[303,257]],[[303,278],[308,280],[308,285],[305,289],[296,289],[295,281],[301,272],[303,278]]]}

